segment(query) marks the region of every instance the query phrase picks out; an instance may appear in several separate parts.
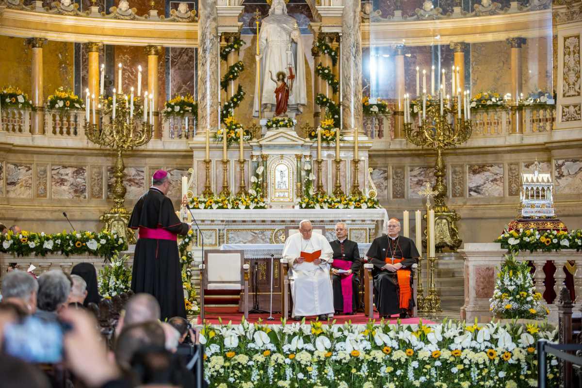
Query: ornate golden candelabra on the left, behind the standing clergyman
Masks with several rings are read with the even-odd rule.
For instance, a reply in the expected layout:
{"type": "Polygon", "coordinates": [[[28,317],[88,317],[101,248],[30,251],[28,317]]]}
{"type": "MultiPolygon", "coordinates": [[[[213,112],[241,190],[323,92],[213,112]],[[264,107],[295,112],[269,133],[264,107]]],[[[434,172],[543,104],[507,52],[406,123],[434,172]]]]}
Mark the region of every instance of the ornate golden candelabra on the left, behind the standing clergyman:
{"type": "MultiPolygon", "coordinates": [[[[117,158],[113,169],[113,207],[109,209],[99,220],[105,224],[105,229],[109,232],[117,232],[125,236],[127,241],[134,241],[133,233],[127,230],[130,213],[125,208],[126,189],[123,186],[123,177],[125,177],[125,165],[123,164],[123,152],[129,151],[134,147],[147,144],[153,134],[154,126],[146,120],[139,121],[139,116],[132,115],[130,108],[122,101],[127,101],[126,96],[118,94],[116,100],[119,104],[115,106],[116,116],[112,116],[112,107],[110,108],[107,101],[101,101],[103,107],[100,114],[95,117],[93,111],[93,123],[86,120],[84,130],[87,138],[100,147],[107,147],[117,152],[117,158]],[[111,118],[111,119],[109,119],[111,118]]],[[[135,112],[139,106],[134,106],[135,112]]]]}

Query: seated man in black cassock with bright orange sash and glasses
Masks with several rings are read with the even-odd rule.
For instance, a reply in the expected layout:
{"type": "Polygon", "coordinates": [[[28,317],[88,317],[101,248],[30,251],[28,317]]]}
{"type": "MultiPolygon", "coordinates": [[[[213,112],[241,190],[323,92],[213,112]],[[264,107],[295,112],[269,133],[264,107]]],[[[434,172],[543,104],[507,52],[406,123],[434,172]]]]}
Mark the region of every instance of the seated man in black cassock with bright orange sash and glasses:
{"type": "Polygon", "coordinates": [[[380,316],[400,314],[400,318],[406,318],[408,309],[414,307],[410,287],[411,266],[416,264],[420,254],[414,241],[400,236],[398,232],[400,221],[391,218],[388,221],[388,236],[374,239],[366,256],[374,265],[374,303],[380,316]]]}

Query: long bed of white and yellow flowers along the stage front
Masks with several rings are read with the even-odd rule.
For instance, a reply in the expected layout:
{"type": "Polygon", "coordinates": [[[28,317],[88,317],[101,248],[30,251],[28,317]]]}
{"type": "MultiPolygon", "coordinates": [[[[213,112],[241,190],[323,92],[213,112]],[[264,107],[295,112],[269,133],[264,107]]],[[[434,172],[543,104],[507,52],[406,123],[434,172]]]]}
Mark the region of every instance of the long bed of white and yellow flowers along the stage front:
{"type": "MultiPolygon", "coordinates": [[[[243,321],[200,331],[212,388],[535,387],[540,339],[557,341],[558,330],[445,319],[430,326],[243,321]]],[[[557,386],[557,359],[547,357],[545,377],[557,386]]]]}

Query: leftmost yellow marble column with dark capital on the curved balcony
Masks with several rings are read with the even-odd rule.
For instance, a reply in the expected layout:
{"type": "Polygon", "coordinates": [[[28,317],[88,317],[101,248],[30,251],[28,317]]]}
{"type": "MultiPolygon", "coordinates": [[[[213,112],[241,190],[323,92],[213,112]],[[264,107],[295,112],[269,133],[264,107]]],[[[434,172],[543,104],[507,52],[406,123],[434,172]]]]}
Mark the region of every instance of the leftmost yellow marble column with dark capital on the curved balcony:
{"type": "Polygon", "coordinates": [[[45,38],[29,38],[27,44],[32,51],[32,134],[44,134],[44,95],[42,83],[42,46],[47,42],[45,38]]]}

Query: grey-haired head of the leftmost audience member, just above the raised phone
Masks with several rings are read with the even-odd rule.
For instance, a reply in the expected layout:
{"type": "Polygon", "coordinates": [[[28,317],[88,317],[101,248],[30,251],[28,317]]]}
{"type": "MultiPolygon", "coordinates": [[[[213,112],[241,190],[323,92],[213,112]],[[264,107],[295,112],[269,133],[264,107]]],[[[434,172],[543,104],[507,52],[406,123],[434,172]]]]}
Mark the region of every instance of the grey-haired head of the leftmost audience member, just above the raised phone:
{"type": "Polygon", "coordinates": [[[21,270],[7,273],[2,280],[2,302],[18,305],[27,314],[37,309],[38,282],[21,270]]]}

